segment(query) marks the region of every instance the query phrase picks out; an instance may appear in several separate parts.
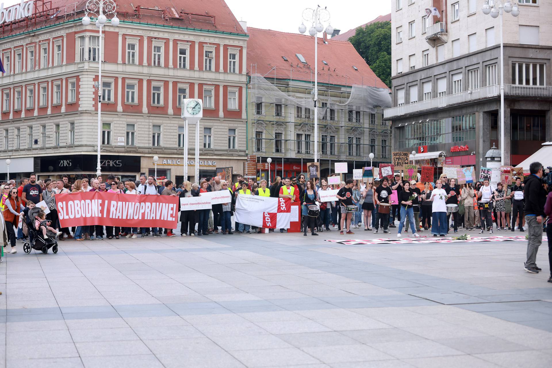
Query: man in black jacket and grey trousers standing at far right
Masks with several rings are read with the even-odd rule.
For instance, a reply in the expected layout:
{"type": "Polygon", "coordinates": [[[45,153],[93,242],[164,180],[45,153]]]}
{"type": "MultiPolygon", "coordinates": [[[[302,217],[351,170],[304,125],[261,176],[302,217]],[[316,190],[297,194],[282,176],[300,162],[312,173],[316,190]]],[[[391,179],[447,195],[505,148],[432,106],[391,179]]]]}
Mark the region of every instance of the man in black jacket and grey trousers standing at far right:
{"type": "Polygon", "coordinates": [[[524,269],[528,273],[538,274],[537,252],[543,241],[544,204],[546,202],[546,190],[543,188],[543,166],[540,162],[529,165],[529,178],[525,180],[523,197],[525,199],[525,222],[529,240],[527,242],[527,261],[524,269]]]}

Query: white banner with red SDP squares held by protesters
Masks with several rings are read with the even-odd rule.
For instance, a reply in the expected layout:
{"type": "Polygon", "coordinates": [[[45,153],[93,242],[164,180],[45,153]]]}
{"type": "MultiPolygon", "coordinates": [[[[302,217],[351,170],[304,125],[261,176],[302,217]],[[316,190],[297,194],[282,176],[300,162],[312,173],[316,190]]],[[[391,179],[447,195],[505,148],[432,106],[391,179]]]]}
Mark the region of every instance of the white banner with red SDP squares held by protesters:
{"type": "Polygon", "coordinates": [[[289,228],[290,212],[290,198],[238,194],[234,218],[246,225],[286,229],[289,228]]]}

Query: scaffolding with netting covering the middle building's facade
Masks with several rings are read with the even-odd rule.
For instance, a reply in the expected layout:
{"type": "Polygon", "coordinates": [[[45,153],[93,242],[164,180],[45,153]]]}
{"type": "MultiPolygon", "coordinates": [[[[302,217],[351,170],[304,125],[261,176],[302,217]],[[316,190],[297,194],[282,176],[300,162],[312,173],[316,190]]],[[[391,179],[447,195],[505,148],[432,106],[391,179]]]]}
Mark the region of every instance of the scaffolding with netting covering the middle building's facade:
{"type": "MultiPolygon", "coordinates": [[[[266,156],[312,159],[314,81],[276,77],[275,67],[264,76],[250,66],[251,152],[266,156]],[[274,76],[272,76],[272,73],[274,76]]],[[[312,75],[312,73],[311,73],[312,75]]],[[[383,109],[391,106],[389,89],[337,86],[319,78],[318,153],[320,161],[389,162],[391,127],[383,109]]]]}

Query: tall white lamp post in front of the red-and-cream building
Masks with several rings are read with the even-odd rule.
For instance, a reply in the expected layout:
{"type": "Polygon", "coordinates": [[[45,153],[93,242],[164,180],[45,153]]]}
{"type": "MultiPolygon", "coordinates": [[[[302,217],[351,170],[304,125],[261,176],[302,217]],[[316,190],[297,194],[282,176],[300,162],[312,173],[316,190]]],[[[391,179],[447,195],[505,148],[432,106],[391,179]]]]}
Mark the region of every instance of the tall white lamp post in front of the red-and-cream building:
{"type": "MultiPolygon", "coordinates": [[[[119,25],[119,18],[117,18],[117,6],[113,0],[88,0],[86,8],[84,9],[84,17],[82,18],[82,25],[88,26],[90,22],[94,22],[100,30],[99,52],[98,52],[98,164],[96,167],[96,175],[102,174],[102,168],[100,167],[100,145],[102,143],[102,29],[105,23],[107,23],[107,17],[105,15],[113,14],[111,19],[111,25],[114,27],[119,25]],[[92,17],[90,19],[88,13],[92,17]]],[[[86,51],[84,52],[86,55],[86,51]]]]}

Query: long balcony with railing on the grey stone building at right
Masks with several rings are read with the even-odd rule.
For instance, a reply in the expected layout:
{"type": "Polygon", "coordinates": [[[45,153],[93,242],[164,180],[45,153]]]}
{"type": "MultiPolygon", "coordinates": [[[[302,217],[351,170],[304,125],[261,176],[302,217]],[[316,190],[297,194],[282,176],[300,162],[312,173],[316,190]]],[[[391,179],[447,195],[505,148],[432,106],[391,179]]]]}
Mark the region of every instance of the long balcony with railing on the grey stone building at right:
{"type": "MultiPolygon", "coordinates": [[[[523,86],[521,84],[505,84],[504,95],[513,97],[546,97],[552,98],[552,86],[523,86]]],[[[383,111],[384,119],[392,119],[396,116],[420,113],[434,109],[442,109],[448,106],[459,105],[476,100],[483,100],[500,96],[500,84],[493,84],[481,88],[465,90],[442,97],[396,106],[383,111]]]]}

